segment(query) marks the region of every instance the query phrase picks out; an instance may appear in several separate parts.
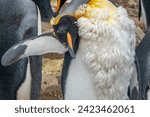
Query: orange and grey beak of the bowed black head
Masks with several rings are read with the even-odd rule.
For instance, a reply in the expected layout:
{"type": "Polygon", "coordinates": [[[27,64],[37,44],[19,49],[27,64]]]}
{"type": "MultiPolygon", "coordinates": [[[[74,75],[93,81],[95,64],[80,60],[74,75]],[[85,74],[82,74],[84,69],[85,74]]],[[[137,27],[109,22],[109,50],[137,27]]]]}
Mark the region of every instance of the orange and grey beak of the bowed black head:
{"type": "Polygon", "coordinates": [[[70,53],[70,56],[73,59],[75,59],[75,53],[74,53],[74,49],[73,49],[73,41],[72,41],[71,34],[69,32],[67,33],[67,42],[68,42],[68,51],[70,53]]]}

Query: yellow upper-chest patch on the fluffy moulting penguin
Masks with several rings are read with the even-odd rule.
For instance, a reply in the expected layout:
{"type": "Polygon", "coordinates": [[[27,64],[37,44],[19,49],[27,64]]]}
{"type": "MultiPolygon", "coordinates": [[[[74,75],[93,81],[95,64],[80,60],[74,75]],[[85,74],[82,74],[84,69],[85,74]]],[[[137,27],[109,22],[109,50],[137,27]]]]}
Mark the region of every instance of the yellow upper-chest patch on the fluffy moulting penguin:
{"type": "Polygon", "coordinates": [[[107,11],[109,17],[105,18],[105,20],[111,21],[114,14],[117,12],[117,7],[108,0],[90,0],[87,4],[80,6],[74,15],[76,19],[79,19],[80,17],[90,19],[99,17],[100,13],[97,11],[107,11]]]}

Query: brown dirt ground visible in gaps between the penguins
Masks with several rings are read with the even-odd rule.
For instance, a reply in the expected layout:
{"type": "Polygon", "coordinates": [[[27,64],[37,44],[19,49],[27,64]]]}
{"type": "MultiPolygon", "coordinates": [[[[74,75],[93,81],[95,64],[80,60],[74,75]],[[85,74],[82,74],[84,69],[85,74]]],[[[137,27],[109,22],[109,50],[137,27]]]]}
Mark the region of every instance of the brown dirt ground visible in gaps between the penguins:
{"type": "MultiPolygon", "coordinates": [[[[56,0],[53,0],[56,1],[56,0]]],[[[123,6],[128,10],[130,17],[135,21],[136,33],[137,33],[137,44],[140,43],[144,36],[144,25],[138,19],[138,4],[137,0],[111,0],[117,6],[123,6]]],[[[55,6],[55,2],[53,2],[55,6]]],[[[43,32],[50,30],[48,23],[42,23],[43,32]]],[[[62,94],[60,90],[60,75],[63,64],[63,55],[58,54],[47,54],[43,56],[43,67],[42,67],[42,90],[41,100],[60,100],[62,94]]]]}

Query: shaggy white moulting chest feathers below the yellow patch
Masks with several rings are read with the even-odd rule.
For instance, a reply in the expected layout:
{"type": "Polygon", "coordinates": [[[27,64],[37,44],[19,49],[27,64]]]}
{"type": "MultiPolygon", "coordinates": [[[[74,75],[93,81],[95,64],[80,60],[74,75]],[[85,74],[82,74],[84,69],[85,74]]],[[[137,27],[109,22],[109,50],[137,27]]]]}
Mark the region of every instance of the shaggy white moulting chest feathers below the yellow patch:
{"type": "Polygon", "coordinates": [[[96,9],[93,18],[78,19],[79,50],[91,74],[97,99],[128,99],[127,91],[134,66],[135,25],[127,11],[96,9]]]}

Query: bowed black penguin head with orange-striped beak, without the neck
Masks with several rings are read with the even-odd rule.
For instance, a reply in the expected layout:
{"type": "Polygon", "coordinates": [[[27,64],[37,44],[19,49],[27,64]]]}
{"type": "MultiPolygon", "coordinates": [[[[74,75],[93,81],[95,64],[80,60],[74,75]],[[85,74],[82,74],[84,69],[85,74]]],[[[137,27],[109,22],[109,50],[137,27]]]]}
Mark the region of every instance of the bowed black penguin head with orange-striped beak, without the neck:
{"type": "Polygon", "coordinates": [[[73,16],[65,15],[57,25],[53,25],[58,40],[68,49],[72,58],[75,58],[74,46],[78,38],[78,27],[73,16]]]}

